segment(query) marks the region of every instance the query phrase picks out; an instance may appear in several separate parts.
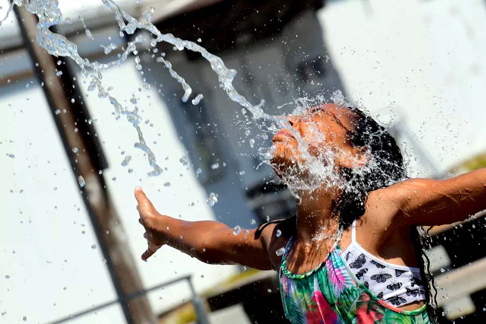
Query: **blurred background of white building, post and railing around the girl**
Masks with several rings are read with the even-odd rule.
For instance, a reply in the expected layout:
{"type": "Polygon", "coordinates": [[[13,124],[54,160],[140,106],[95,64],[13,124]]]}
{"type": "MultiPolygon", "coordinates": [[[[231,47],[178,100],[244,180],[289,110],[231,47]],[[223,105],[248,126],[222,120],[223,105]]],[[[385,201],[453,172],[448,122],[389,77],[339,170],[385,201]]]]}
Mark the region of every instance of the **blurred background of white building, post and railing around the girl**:
{"type": "MultiPolygon", "coordinates": [[[[135,17],[153,7],[161,32],[220,56],[238,92],[264,99],[268,113],[341,91],[390,128],[411,177],[486,167],[484,0],[117,4],[135,17]]],[[[0,6],[3,17],[9,2],[0,6]]],[[[90,61],[116,59],[137,35],[120,35],[101,0],[59,7],[56,31],[90,61]]],[[[262,164],[270,140],[207,61],[148,43],[103,72],[110,94],[144,118],[164,169],[148,177],[137,132],[88,91],[77,65],[35,44],[26,17],[16,10],[0,26],[0,322],[285,322],[274,272],[205,265],[168,247],[140,260],[136,185],[160,213],[185,220],[254,228],[295,210],[262,164]],[[180,84],[153,59],[160,53],[204,95],[199,104],[181,101],[180,84]]],[[[437,302],[450,322],[486,321],[482,216],[431,230],[437,302]]]]}

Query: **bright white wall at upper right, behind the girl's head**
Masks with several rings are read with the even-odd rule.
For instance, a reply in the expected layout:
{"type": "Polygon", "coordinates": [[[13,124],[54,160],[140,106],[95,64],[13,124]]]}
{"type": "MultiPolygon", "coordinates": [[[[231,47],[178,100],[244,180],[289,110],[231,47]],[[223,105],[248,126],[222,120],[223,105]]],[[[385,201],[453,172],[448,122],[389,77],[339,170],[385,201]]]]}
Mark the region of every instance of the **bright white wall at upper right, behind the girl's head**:
{"type": "Polygon", "coordinates": [[[403,115],[439,170],[486,149],[484,1],[344,0],[319,18],[348,95],[403,115]]]}

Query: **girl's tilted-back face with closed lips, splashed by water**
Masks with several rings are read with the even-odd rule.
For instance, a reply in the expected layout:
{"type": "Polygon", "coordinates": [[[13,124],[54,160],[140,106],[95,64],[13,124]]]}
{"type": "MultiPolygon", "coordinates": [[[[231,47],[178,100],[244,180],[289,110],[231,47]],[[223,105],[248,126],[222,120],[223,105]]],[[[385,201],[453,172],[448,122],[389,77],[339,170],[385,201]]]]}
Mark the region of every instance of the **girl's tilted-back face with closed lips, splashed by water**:
{"type": "MultiPolygon", "coordinates": [[[[324,104],[308,109],[302,115],[290,115],[292,128],[308,145],[308,151],[316,157],[324,152],[332,153],[337,167],[353,166],[359,149],[347,138],[353,129],[353,113],[335,104],[324,104]]],[[[305,163],[298,142],[289,129],[281,129],[272,139],[275,150],[270,163],[278,175],[298,172],[305,163]],[[297,167],[297,168],[295,168],[297,167]]]]}

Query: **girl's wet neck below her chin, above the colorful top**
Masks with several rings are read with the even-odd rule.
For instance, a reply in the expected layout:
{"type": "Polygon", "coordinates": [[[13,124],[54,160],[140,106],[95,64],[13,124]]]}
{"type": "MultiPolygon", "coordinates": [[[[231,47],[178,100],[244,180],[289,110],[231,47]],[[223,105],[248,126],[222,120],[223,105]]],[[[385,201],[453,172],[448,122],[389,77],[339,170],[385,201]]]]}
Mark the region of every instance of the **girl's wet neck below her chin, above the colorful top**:
{"type": "Polygon", "coordinates": [[[333,212],[333,205],[338,195],[337,190],[329,188],[318,188],[312,192],[301,193],[300,199],[297,201],[297,239],[299,242],[312,246],[323,239],[337,235],[339,219],[333,212]]]}

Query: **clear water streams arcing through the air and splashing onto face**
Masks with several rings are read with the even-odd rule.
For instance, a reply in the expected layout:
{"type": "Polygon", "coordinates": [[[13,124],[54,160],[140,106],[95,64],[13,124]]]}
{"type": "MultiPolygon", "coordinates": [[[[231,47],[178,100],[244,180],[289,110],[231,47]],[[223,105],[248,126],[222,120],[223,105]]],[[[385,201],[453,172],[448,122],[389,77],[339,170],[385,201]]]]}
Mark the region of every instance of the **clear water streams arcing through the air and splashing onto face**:
{"type": "MultiPolygon", "coordinates": [[[[161,33],[151,22],[152,15],[154,13],[153,8],[150,8],[149,11],[143,13],[143,17],[146,19],[146,22],[140,22],[136,18],[129,15],[126,11],[118,7],[118,5],[116,5],[112,0],[101,1],[115,14],[115,19],[118,23],[120,33],[134,34],[137,30],[146,30],[155,37],[151,39],[150,44],[152,47],[156,46],[156,43],[166,42],[174,45],[176,50],[182,51],[186,49],[201,54],[201,56],[203,56],[210,63],[211,68],[216,72],[220,87],[226,92],[229,99],[244,107],[244,109],[242,109],[243,114],[245,114],[245,112],[248,110],[251,112],[255,121],[258,119],[271,121],[272,126],[268,127],[267,131],[275,132],[280,128],[285,128],[292,133],[298,143],[295,153],[299,157],[299,172],[297,174],[295,172],[289,172],[288,174],[282,174],[281,176],[296,197],[298,197],[299,191],[301,190],[314,190],[321,187],[322,184],[332,187],[340,183],[339,175],[336,173],[334,167],[335,153],[331,149],[325,149],[319,153],[318,156],[310,154],[308,144],[301,137],[300,133],[291,127],[287,117],[284,114],[267,114],[262,109],[264,105],[263,100],[259,104],[253,105],[244,96],[240,95],[236,91],[232,84],[236,71],[234,69],[227,68],[221,58],[209,53],[205,48],[194,42],[185,41],[184,39],[175,37],[171,33],[161,33]],[[306,177],[299,175],[302,173],[305,173],[306,177]]],[[[22,1],[13,1],[11,8],[9,8],[9,12],[12,10],[14,5],[21,6],[22,1]]],[[[53,33],[49,30],[51,26],[57,25],[62,20],[62,13],[58,8],[58,0],[31,0],[24,2],[24,5],[28,12],[37,15],[39,19],[37,23],[37,43],[45,48],[51,55],[56,57],[70,57],[74,60],[74,62],[82,69],[82,75],[91,79],[88,90],[94,91],[96,89],[98,91],[98,97],[108,100],[113,106],[115,115],[117,117],[125,116],[127,121],[137,131],[139,142],[135,143],[135,147],[143,150],[147,154],[148,163],[153,168],[148,175],[160,175],[163,172],[163,169],[157,165],[155,155],[148,147],[143,137],[140,127],[142,118],[139,114],[138,108],[135,107],[133,110],[129,110],[127,107],[123,107],[116,98],[109,94],[110,88],[105,88],[101,81],[102,71],[125,62],[130,54],[136,54],[137,44],[145,42],[145,37],[140,34],[137,35],[134,41],[129,42],[125,51],[118,55],[118,58],[115,60],[108,63],[99,63],[97,61],[90,62],[87,58],[83,58],[79,55],[77,46],[74,43],[68,41],[66,37],[53,33]],[[88,71],[88,69],[90,71],[88,71]]],[[[86,27],[85,29],[88,37],[90,37],[91,32],[88,32],[86,27]]],[[[92,38],[92,36],[90,38],[92,38]]],[[[109,45],[107,48],[105,48],[105,52],[109,53],[112,49],[113,46],[109,45]]],[[[163,63],[164,66],[169,69],[171,76],[182,85],[184,90],[182,101],[186,102],[192,94],[192,89],[189,84],[187,84],[185,79],[172,68],[172,64],[168,60],[164,59],[164,53],[162,53],[161,56],[156,59],[156,61],[163,63]]],[[[137,62],[137,65],[139,64],[140,63],[137,62]]],[[[149,88],[150,86],[145,85],[145,87],[149,88]]],[[[342,97],[340,93],[337,93],[336,96],[342,97]]],[[[203,95],[199,94],[192,100],[192,103],[197,105],[202,98],[203,95]]],[[[341,98],[340,100],[343,101],[344,98],[341,98]]],[[[306,101],[305,99],[294,100],[293,104],[297,105],[297,108],[293,114],[302,113],[310,107],[310,102],[306,101]]],[[[263,128],[264,123],[257,123],[257,125],[260,128],[263,128]]],[[[315,141],[322,140],[323,134],[319,134],[318,130],[315,130],[314,135],[315,141]]],[[[264,132],[264,136],[262,137],[268,136],[264,132]]],[[[250,144],[252,147],[254,143],[255,140],[251,139],[250,144]]],[[[269,161],[273,153],[272,148],[270,150],[259,149],[259,152],[264,157],[264,161],[269,161]]]]}

